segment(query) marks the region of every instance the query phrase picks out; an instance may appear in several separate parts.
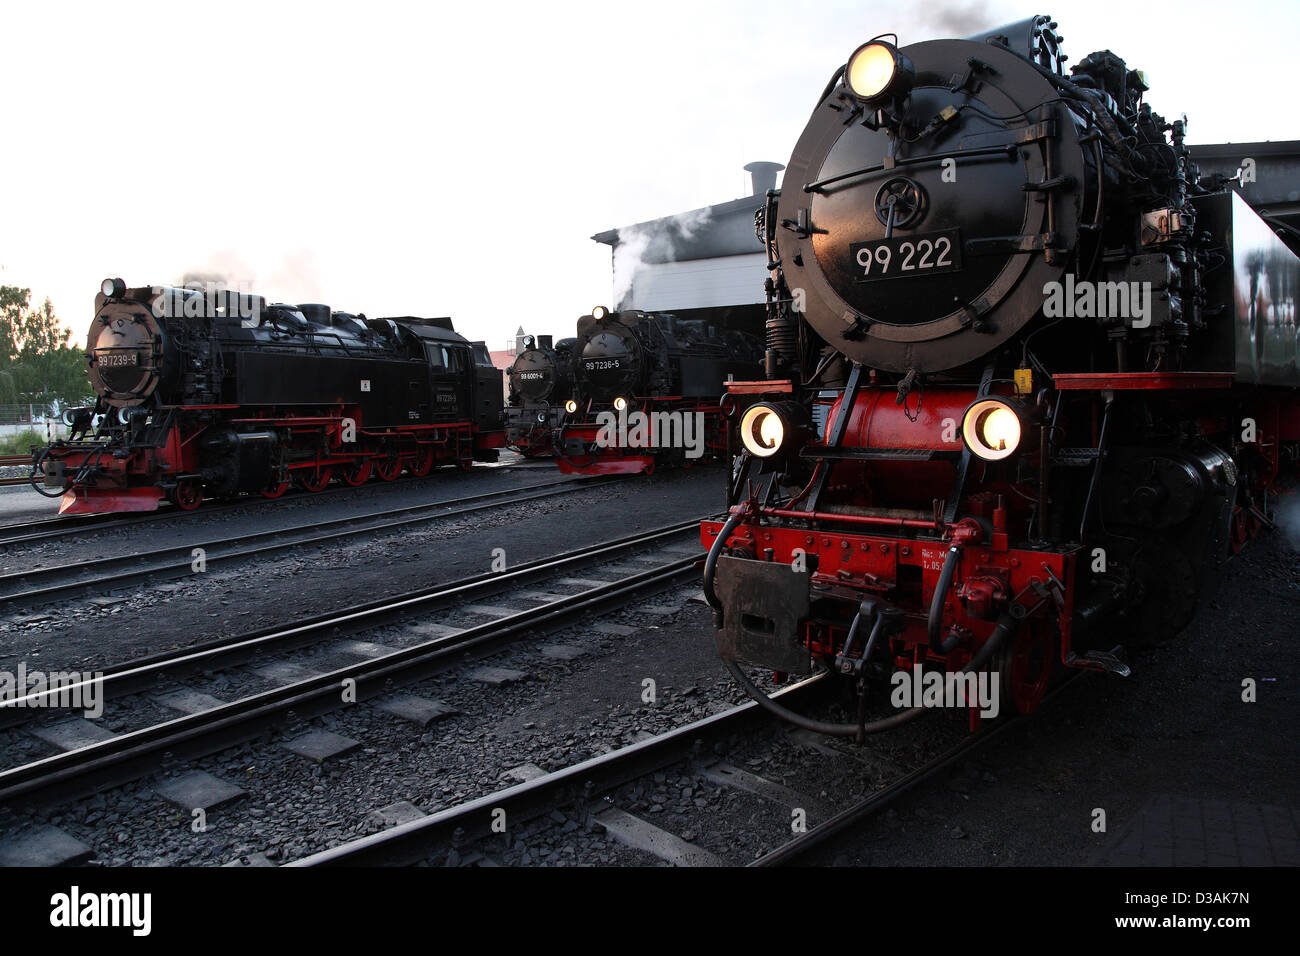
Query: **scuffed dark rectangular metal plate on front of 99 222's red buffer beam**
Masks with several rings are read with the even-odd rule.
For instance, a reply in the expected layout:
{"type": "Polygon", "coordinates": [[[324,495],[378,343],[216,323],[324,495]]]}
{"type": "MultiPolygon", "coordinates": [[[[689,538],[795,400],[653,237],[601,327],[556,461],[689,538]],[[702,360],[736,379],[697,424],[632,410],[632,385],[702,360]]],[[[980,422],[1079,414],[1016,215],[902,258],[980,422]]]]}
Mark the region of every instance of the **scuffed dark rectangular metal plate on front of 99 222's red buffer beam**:
{"type": "Polygon", "coordinates": [[[718,656],[786,674],[811,671],[809,650],[800,640],[810,579],[809,571],[789,564],[720,557],[714,591],[725,617],[718,631],[718,656]]]}

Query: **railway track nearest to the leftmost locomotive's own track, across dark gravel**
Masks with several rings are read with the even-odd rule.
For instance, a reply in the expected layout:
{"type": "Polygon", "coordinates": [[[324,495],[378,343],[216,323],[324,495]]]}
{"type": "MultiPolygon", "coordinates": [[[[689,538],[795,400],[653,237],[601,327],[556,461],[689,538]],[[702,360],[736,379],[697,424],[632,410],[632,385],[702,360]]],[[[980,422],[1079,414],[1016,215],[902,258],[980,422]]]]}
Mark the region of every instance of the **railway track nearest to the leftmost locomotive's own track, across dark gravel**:
{"type": "Polygon", "coordinates": [[[618,479],[578,479],[547,481],[524,488],[489,492],[471,497],[413,505],[398,510],[350,515],[309,527],[286,528],[187,542],[146,553],[96,558],[75,564],[26,568],[0,574],[0,605],[32,607],[68,598],[87,591],[110,592],[148,580],[183,578],[194,572],[196,549],[202,549],[204,567],[213,563],[248,559],[339,541],[360,535],[408,528],[458,515],[494,507],[507,507],[572,494],[584,488],[608,484],[618,479]]]}

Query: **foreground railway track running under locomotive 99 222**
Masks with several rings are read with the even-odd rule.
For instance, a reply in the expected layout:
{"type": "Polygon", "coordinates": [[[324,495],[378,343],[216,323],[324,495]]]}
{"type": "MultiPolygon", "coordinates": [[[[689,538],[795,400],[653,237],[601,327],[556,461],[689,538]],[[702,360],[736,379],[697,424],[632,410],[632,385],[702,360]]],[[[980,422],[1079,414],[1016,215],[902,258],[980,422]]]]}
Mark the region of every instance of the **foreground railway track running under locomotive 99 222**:
{"type": "MultiPolygon", "coordinates": [[[[823,675],[816,675],[776,692],[774,698],[794,710],[805,710],[816,700],[823,675]]],[[[1044,698],[1050,701],[1069,680],[1044,698]]],[[[581,822],[586,830],[604,830],[608,839],[645,855],[646,860],[679,866],[720,866],[733,860],[688,842],[645,816],[628,813],[619,806],[618,793],[637,780],[647,779],[658,771],[681,765],[684,777],[748,795],[766,803],[774,819],[790,821],[792,814],[816,814],[810,826],[788,827],[788,839],[775,848],[759,848],[748,860],[749,866],[768,868],[807,862],[812,851],[831,838],[862,823],[870,816],[896,804],[910,791],[939,777],[957,761],[972,756],[994,740],[1005,736],[1024,718],[1009,714],[978,734],[961,737],[956,744],[927,758],[919,766],[898,773],[863,796],[850,800],[838,810],[828,810],[823,800],[751,774],[727,758],[711,754],[719,741],[737,734],[753,735],[757,728],[779,728],[777,722],[753,701],[720,714],[660,734],[606,754],[601,754],[563,770],[537,777],[532,780],[468,800],[439,813],[396,826],[370,836],[364,836],[326,851],[292,861],[290,866],[394,866],[411,864],[437,864],[447,857],[459,862],[491,862],[503,847],[500,821],[510,821],[515,832],[526,831],[530,842],[547,840],[545,823],[542,832],[529,830],[534,821],[581,822]]],[[[823,756],[852,760],[852,754],[823,747],[823,756]],[[842,756],[836,756],[842,754],[842,756]]],[[[737,761],[738,763],[738,761],[737,761]]],[[[662,775],[660,775],[662,777],[662,775]]],[[[662,808],[660,808],[662,809],[662,808]]],[[[707,814],[699,814],[707,817],[707,814]]],[[[702,832],[707,819],[694,819],[690,832],[702,832]]],[[[771,832],[771,831],[768,831],[771,832]]],[[[563,839],[552,836],[550,843],[563,839]]],[[[578,858],[576,862],[585,862],[578,858]]]]}

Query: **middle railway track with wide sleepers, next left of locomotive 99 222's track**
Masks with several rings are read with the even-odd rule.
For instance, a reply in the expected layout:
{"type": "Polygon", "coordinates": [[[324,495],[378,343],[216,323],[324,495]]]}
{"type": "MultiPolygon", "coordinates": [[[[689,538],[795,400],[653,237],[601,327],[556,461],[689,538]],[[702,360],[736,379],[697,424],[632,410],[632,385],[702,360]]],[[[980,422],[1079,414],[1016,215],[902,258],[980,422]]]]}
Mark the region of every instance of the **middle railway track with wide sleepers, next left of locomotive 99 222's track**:
{"type": "MultiPolygon", "coordinates": [[[[395,618],[411,618],[446,605],[452,600],[481,596],[490,589],[516,587],[577,567],[618,562],[666,542],[693,541],[698,519],[636,535],[597,548],[571,551],[515,571],[484,575],[450,585],[412,594],[402,594],[372,605],[347,609],[335,615],[302,622],[280,631],[244,635],[200,648],[156,656],[142,662],[113,669],[105,674],[104,692],[121,697],[144,688],[156,688],[160,678],[217,667],[229,667],[257,652],[281,652],[322,637],[338,637],[381,626],[395,618]]],[[[629,600],[653,593],[694,574],[698,554],[688,554],[656,563],[644,571],[625,574],[619,580],[593,583],[582,591],[554,596],[538,607],[520,610],[507,617],[465,630],[445,633],[404,648],[385,649],[381,656],[291,680],[281,687],[252,693],[233,702],[192,713],[139,730],[118,734],[99,743],[66,750],[51,757],[22,763],[0,773],[0,804],[75,796],[114,786],[156,769],[162,756],[198,757],[248,740],[290,715],[295,719],[352,706],[386,695],[393,684],[406,684],[463,665],[502,649],[511,641],[533,636],[540,628],[560,624],[577,615],[621,606],[629,600]],[[350,682],[351,700],[344,701],[341,688],[350,682]]],[[[450,628],[448,628],[450,630],[450,628]]],[[[66,691],[68,688],[65,688],[66,691]]],[[[29,695],[0,704],[0,715],[23,714],[39,706],[48,695],[29,695]]]]}

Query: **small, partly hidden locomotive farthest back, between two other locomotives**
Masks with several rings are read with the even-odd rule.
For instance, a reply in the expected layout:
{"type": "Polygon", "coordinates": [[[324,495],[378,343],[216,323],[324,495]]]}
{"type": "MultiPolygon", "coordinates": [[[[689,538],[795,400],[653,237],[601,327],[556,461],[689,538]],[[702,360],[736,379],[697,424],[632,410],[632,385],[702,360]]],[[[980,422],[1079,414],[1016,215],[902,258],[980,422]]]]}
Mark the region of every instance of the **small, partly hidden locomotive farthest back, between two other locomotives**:
{"type": "Polygon", "coordinates": [[[524,349],[507,373],[506,445],[525,458],[554,454],[552,437],[573,397],[573,342],[524,336],[524,349]]]}

